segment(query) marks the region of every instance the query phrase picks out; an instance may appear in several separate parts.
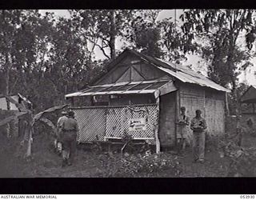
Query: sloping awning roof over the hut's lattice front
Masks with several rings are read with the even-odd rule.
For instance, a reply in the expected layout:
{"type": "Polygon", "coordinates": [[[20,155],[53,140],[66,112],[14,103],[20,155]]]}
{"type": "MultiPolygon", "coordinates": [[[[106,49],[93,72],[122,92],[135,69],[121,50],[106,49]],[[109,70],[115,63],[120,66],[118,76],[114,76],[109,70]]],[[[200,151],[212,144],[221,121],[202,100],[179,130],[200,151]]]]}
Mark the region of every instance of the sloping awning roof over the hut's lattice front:
{"type": "Polygon", "coordinates": [[[66,94],[65,98],[110,95],[110,94],[167,94],[177,90],[171,80],[153,80],[142,82],[117,82],[106,85],[90,86],[84,90],[72,94],[66,94]]]}

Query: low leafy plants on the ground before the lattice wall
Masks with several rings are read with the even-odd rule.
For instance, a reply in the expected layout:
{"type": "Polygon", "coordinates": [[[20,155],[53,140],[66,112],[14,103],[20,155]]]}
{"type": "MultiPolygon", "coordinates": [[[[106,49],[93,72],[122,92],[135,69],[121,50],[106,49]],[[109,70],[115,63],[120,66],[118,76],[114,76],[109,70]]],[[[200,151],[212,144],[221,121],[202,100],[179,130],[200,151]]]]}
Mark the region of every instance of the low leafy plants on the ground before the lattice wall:
{"type": "Polygon", "coordinates": [[[99,177],[158,177],[163,170],[173,170],[177,173],[177,158],[167,154],[120,154],[101,155],[102,171],[99,177]]]}

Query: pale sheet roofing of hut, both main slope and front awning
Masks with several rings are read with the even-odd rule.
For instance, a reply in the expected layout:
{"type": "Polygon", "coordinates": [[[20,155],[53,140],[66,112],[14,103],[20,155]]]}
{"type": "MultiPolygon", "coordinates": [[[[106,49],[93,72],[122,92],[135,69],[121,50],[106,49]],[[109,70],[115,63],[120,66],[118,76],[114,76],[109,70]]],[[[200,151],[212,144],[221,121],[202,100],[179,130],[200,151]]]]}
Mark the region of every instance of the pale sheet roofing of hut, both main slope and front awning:
{"type": "MultiPolygon", "coordinates": [[[[142,58],[145,62],[150,63],[152,66],[155,66],[158,70],[161,70],[166,73],[166,75],[177,78],[178,80],[182,82],[188,82],[188,83],[194,83],[199,86],[206,86],[210,87],[214,90],[220,90],[224,92],[230,92],[229,89],[226,89],[223,86],[218,85],[216,82],[213,82],[210,80],[210,78],[207,78],[203,76],[202,74],[199,74],[195,72],[194,70],[190,69],[188,66],[182,66],[178,64],[174,64],[172,62],[166,62],[159,58],[153,58],[150,56],[147,56],[145,54],[138,53],[135,50],[126,49],[118,56],[118,58],[114,59],[113,62],[110,62],[108,64],[108,69],[112,69],[114,66],[118,64],[118,62],[121,62],[123,58],[126,57],[126,54],[135,54],[138,56],[138,58],[142,58]]],[[[104,76],[103,76],[104,77],[104,76]]],[[[103,78],[102,77],[102,78],[103,78]]],[[[98,79],[97,82],[94,84],[97,84],[101,81],[101,79],[98,79]]],[[[149,81],[143,81],[143,82],[117,82],[112,84],[106,84],[104,86],[90,86],[87,87],[85,90],[81,90],[78,92],[75,92],[73,94],[66,94],[66,98],[74,97],[74,96],[83,96],[83,95],[97,95],[97,94],[138,94],[138,93],[152,93],[153,90],[159,90],[157,85],[152,85],[148,87],[145,90],[145,87],[148,85],[145,85],[147,83],[150,83],[149,81]],[[134,89],[137,90],[131,90],[130,85],[138,84],[138,86],[134,87],[134,89]]],[[[156,82],[154,80],[153,82],[156,82]]],[[[159,82],[159,81],[157,81],[159,82]]],[[[161,85],[161,83],[159,83],[161,85]]],[[[161,87],[161,86],[159,86],[161,87]]],[[[167,91],[177,90],[174,89],[174,85],[172,83],[166,83],[164,91],[162,90],[162,94],[166,94],[167,91]],[[170,89],[167,88],[167,86],[170,87],[170,89]]],[[[160,95],[162,95],[160,92],[160,95]]]]}

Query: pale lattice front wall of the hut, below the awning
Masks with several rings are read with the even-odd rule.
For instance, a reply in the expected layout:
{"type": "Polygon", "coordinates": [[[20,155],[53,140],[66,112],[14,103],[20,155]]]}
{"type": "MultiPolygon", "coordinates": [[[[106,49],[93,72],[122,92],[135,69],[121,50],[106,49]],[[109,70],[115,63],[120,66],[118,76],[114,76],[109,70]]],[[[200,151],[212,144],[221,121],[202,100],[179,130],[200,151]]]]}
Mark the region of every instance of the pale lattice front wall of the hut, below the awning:
{"type": "Polygon", "coordinates": [[[126,133],[154,144],[157,105],[76,107],[73,110],[79,126],[78,142],[122,138],[126,133]],[[131,122],[140,120],[144,122],[142,129],[131,128],[131,122]]]}

